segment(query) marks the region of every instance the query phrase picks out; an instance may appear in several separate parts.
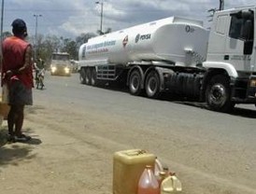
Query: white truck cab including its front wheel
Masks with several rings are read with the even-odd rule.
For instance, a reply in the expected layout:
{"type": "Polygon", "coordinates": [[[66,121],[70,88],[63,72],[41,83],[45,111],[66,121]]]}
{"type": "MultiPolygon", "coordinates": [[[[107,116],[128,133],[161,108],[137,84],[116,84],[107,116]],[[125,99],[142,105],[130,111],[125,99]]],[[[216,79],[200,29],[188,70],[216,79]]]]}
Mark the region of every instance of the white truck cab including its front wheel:
{"type": "Polygon", "coordinates": [[[216,109],[225,103],[256,104],[255,11],[239,7],[214,14],[203,66],[206,102],[216,109]]]}

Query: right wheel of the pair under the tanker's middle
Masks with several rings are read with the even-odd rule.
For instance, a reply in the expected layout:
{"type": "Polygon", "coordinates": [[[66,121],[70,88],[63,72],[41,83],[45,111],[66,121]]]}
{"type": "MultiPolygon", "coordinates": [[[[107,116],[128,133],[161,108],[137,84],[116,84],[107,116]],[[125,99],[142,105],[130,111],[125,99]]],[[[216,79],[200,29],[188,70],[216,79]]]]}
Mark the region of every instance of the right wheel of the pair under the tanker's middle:
{"type": "Polygon", "coordinates": [[[160,78],[156,71],[151,71],[146,78],[145,90],[149,98],[157,98],[160,93],[160,78]]]}

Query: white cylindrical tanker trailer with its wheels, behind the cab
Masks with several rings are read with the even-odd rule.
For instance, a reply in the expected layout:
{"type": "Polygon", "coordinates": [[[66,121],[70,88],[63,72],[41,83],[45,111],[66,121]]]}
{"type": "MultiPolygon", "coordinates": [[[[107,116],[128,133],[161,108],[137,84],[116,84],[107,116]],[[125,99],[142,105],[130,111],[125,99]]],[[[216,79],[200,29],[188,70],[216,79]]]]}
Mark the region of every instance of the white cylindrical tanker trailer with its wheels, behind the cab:
{"type": "MultiPolygon", "coordinates": [[[[169,90],[165,79],[176,69],[200,71],[207,39],[202,21],[178,17],[93,37],[79,48],[80,81],[96,85],[125,79],[132,94],[146,90],[150,98],[157,98],[169,90]]],[[[190,93],[196,95],[194,90],[190,93]]]]}

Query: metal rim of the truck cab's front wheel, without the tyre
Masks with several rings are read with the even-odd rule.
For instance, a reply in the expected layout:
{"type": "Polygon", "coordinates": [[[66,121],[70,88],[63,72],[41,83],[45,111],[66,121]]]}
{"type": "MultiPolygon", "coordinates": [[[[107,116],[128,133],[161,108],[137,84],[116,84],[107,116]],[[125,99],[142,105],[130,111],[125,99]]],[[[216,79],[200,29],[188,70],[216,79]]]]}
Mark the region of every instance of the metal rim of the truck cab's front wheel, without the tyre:
{"type": "Polygon", "coordinates": [[[222,106],[227,100],[225,87],[221,84],[213,85],[210,90],[209,102],[211,104],[216,104],[222,106]]]}

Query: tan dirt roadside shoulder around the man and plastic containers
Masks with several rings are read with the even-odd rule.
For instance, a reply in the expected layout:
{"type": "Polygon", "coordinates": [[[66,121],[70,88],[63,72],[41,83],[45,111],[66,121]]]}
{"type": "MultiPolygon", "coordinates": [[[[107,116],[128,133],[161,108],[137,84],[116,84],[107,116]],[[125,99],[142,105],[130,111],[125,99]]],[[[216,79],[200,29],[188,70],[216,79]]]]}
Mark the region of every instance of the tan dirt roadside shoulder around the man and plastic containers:
{"type": "MultiPolygon", "coordinates": [[[[33,137],[27,144],[7,144],[7,121],[3,122],[0,131],[1,193],[109,194],[112,193],[115,151],[148,146],[154,154],[158,151],[161,156],[171,158],[166,149],[170,140],[164,138],[164,134],[158,134],[157,140],[155,132],[147,127],[143,129],[128,118],[121,120],[101,115],[99,119],[97,110],[89,114],[71,106],[74,104],[49,106],[47,102],[40,102],[27,107],[23,129],[33,137]],[[137,128],[141,130],[139,133],[137,128]]],[[[177,137],[174,139],[178,141],[177,137]]],[[[183,150],[181,144],[179,148],[183,150]]],[[[197,146],[190,150],[193,148],[198,153],[202,151],[197,146]]],[[[184,156],[186,154],[189,152],[184,156]]],[[[240,187],[174,160],[167,162],[178,173],[184,194],[255,193],[252,188],[240,187]]],[[[202,165],[201,162],[198,159],[197,165],[202,165]]],[[[222,171],[225,173],[225,169],[222,171]]]]}

